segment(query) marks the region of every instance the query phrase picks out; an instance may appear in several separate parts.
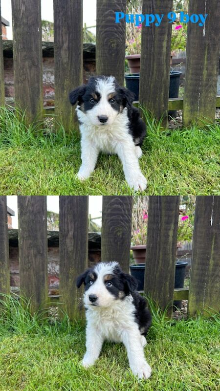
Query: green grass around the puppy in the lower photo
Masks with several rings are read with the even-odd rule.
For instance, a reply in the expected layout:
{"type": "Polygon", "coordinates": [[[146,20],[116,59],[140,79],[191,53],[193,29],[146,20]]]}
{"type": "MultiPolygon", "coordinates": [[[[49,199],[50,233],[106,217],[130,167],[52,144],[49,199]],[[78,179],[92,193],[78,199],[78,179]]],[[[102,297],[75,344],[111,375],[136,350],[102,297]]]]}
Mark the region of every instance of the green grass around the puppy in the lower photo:
{"type": "Polygon", "coordinates": [[[145,356],[149,380],[132,375],[122,344],[105,343],[96,364],[80,365],[85,324],[67,318],[39,322],[17,299],[0,312],[0,391],[217,391],[220,386],[220,319],[167,321],[152,307],[145,356]]]}

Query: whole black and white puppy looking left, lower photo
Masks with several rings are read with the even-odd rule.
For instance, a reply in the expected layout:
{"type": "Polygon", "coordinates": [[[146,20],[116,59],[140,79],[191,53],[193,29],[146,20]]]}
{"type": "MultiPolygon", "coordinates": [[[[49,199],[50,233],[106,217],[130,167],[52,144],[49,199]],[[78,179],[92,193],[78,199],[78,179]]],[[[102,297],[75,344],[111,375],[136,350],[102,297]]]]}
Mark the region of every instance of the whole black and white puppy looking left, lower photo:
{"type": "Polygon", "coordinates": [[[123,273],[117,262],[101,262],[78,277],[77,287],[82,283],[87,318],[83,366],[94,364],[105,340],[122,342],[132,372],[139,378],[149,378],[151,367],[143,347],[151,314],[145,299],[136,291],[137,281],[123,273]]]}

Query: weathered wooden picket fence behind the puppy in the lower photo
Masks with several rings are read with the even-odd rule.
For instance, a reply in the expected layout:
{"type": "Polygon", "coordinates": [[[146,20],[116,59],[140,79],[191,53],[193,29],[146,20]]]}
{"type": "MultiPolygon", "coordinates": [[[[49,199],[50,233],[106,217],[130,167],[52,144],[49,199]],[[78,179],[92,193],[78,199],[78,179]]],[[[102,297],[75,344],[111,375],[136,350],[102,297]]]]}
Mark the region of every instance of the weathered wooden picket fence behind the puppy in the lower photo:
{"type": "MultiPolygon", "coordinates": [[[[9,293],[6,196],[0,196],[0,293],[9,293]]],[[[18,196],[20,291],[32,311],[48,298],[46,197],[18,196]]],[[[188,299],[188,313],[220,311],[220,196],[196,199],[189,289],[174,289],[178,196],[149,196],[144,292],[162,309],[188,299]]],[[[102,261],[129,272],[132,196],[103,196],[102,261]]],[[[88,266],[88,196],[60,196],[60,299],[71,320],[79,316],[76,278],[88,266]]]]}

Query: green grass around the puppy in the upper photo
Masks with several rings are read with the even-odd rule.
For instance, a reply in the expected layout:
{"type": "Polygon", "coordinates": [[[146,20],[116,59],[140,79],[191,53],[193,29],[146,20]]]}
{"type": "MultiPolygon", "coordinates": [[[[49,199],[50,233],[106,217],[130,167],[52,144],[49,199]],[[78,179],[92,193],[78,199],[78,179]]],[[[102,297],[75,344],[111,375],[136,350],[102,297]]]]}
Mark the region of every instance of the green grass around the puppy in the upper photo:
{"type": "MultiPolygon", "coordinates": [[[[26,128],[22,114],[0,109],[0,194],[132,195],[117,156],[101,154],[91,177],[80,182],[80,137],[64,129],[26,128]],[[20,118],[19,118],[20,117],[20,118]]],[[[147,117],[140,159],[146,195],[219,195],[220,126],[159,129],[147,117]]]]}

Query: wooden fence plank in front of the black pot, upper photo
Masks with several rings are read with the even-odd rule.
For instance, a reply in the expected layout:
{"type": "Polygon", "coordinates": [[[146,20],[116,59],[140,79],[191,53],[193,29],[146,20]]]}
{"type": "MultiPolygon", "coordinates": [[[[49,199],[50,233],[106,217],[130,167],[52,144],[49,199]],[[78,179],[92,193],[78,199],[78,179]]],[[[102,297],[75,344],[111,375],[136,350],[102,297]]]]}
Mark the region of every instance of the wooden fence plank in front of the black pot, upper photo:
{"type": "Polygon", "coordinates": [[[167,14],[173,10],[173,0],[143,0],[143,14],[164,14],[159,27],[152,23],[142,27],[139,100],[167,126],[170,80],[172,23],[167,14]]]}

